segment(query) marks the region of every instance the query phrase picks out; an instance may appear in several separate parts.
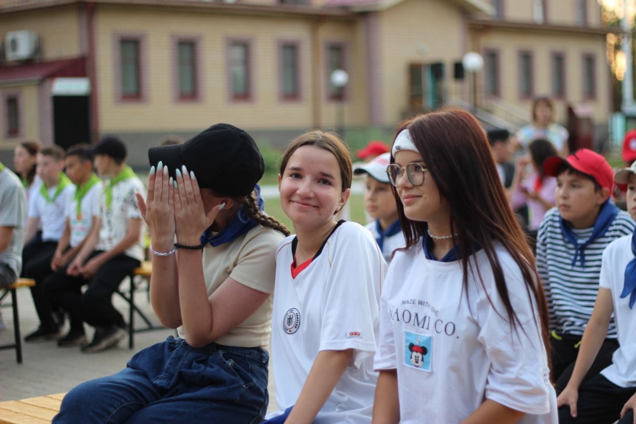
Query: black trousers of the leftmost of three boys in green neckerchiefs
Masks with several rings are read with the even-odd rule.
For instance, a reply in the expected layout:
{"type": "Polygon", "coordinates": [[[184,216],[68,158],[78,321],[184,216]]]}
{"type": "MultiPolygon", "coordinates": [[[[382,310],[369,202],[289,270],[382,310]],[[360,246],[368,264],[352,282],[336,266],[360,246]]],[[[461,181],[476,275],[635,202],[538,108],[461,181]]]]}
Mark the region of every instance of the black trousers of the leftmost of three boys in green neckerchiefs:
{"type": "Polygon", "coordinates": [[[57,241],[37,241],[22,251],[22,276],[36,281],[36,285],[31,287],[31,297],[38,312],[40,325],[46,329],[55,329],[58,325],[53,318],[53,306],[42,290],[44,279],[53,272],[51,260],[55,255],[55,248],[57,241]]]}

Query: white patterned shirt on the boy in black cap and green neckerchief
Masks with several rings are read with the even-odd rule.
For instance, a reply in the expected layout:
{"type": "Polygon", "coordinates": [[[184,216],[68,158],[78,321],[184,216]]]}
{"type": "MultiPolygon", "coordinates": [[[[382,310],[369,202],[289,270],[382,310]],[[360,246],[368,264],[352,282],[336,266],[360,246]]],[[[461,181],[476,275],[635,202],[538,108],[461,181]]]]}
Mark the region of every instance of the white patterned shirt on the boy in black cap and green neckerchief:
{"type": "MultiPolygon", "coordinates": [[[[106,192],[102,189],[100,196],[100,216],[102,226],[99,229],[99,243],[97,250],[111,250],[123,239],[128,232],[128,220],[141,220],[141,212],[137,206],[135,191],[146,197],[146,188],[139,178],[128,178],[113,186],[111,207],[106,208],[106,192]]],[[[125,251],[127,257],[144,260],[144,225],[139,231],[137,243],[125,251]]]]}

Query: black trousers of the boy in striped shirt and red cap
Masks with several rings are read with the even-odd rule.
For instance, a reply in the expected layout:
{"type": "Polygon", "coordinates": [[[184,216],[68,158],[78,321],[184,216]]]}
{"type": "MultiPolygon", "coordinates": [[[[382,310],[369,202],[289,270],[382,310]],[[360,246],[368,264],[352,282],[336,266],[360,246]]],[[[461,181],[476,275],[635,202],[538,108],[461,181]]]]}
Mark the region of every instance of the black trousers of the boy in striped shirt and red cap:
{"type": "MultiPolygon", "coordinates": [[[[561,340],[550,337],[550,346],[552,349],[552,378],[555,381],[556,395],[558,396],[567,382],[570,381],[572,371],[574,371],[574,363],[579,355],[579,344],[581,336],[563,334],[561,340]]],[[[583,378],[583,383],[598,375],[606,367],[612,364],[612,355],[618,349],[618,341],[616,339],[605,339],[598,355],[590,367],[590,371],[583,378]]]]}

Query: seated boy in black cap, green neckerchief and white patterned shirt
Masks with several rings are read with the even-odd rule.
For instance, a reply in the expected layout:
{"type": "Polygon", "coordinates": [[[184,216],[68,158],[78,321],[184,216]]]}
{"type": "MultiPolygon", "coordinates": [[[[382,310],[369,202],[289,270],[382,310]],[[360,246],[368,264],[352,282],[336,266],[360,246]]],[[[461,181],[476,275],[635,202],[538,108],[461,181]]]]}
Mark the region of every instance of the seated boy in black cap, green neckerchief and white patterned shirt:
{"type": "Polygon", "coordinates": [[[81,346],[85,353],[112,348],[126,336],[126,324],[112,297],[121,280],[144,259],[143,220],[135,192],[145,194],[146,189],[126,165],[126,155],[126,145],[118,138],[106,137],[95,146],[95,168],[106,180],[100,218],[68,265],[66,278],[55,286],[47,284],[47,293],[71,322],[84,320],[95,327],[91,343],[81,346]]]}

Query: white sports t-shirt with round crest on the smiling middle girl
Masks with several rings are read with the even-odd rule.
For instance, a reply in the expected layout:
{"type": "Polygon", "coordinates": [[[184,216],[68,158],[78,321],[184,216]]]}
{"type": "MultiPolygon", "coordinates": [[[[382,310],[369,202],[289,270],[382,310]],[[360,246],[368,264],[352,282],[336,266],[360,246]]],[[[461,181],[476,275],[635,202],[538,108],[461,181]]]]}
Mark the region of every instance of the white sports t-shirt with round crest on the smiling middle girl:
{"type": "Polygon", "coordinates": [[[276,255],[272,358],[280,412],[296,403],[319,351],[353,349],[314,423],[370,423],[382,254],[364,227],[343,222],[292,278],[294,239],[284,239],[276,255]]]}

